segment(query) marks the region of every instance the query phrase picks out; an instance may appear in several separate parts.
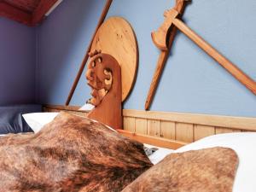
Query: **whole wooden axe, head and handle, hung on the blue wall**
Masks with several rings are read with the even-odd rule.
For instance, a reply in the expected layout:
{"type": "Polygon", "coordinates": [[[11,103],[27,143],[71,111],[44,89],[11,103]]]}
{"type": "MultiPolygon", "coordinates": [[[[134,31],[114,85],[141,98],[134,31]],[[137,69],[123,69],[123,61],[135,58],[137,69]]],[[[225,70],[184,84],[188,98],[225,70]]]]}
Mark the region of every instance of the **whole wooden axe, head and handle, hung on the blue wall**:
{"type": "MultiPolygon", "coordinates": [[[[244,84],[248,90],[251,90],[253,94],[256,95],[256,82],[243,73],[241,69],[236,67],[231,61],[218,53],[218,50],[214,49],[210,44],[208,44],[203,38],[197,35],[193,30],[189,28],[182,20],[179,19],[179,12],[177,9],[169,9],[165,12],[166,20],[160,26],[156,32],[152,32],[151,36],[154,44],[162,50],[168,49],[168,44],[166,43],[169,37],[169,33],[172,32],[172,26],[177,27],[178,30],[183,32],[188,38],[190,38],[195,44],[197,44],[201,49],[203,49],[208,55],[210,55],[215,61],[217,61],[222,67],[224,67],[231,75],[233,75],[237,80],[244,84]]],[[[153,90],[155,88],[151,88],[153,90]]],[[[148,95],[150,94],[150,90],[148,95]]],[[[152,102],[152,96],[147,98],[145,109],[149,108],[147,103],[152,102]]]]}

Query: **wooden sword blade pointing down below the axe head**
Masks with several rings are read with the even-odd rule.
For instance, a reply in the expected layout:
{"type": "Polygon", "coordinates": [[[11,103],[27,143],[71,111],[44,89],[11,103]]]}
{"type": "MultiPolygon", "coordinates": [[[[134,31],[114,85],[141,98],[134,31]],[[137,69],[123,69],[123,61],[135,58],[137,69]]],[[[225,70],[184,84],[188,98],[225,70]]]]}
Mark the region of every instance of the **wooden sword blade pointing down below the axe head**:
{"type": "Polygon", "coordinates": [[[148,96],[145,102],[145,110],[148,110],[150,108],[150,105],[153,101],[154,93],[157,88],[157,85],[159,84],[161,73],[163,72],[163,69],[166,64],[166,60],[168,58],[170,49],[172,48],[172,43],[175,38],[175,35],[177,33],[177,28],[174,26],[172,28],[172,32],[169,39],[169,45],[167,50],[161,50],[160,56],[157,61],[157,65],[155,67],[154,76],[150,84],[150,88],[148,90],[148,96]]]}

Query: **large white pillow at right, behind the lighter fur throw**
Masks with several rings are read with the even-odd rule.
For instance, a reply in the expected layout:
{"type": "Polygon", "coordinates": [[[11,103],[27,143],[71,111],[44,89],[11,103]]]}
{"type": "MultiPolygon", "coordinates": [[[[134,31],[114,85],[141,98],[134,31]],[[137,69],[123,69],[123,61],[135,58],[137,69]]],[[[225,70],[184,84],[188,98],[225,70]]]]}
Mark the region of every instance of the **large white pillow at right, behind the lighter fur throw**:
{"type": "Polygon", "coordinates": [[[239,157],[239,166],[236,172],[233,192],[256,191],[256,133],[225,133],[205,137],[201,140],[178,148],[177,152],[212,147],[232,148],[239,157]]]}

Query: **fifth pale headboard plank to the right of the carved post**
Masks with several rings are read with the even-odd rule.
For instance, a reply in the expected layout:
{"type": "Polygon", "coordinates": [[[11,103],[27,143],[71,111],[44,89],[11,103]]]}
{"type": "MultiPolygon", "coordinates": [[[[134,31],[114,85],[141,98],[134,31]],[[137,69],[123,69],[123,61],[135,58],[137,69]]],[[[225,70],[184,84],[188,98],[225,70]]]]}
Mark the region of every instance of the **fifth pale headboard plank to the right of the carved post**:
{"type": "Polygon", "coordinates": [[[193,124],[176,124],[176,139],[182,142],[191,143],[194,140],[193,136],[193,124]]]}

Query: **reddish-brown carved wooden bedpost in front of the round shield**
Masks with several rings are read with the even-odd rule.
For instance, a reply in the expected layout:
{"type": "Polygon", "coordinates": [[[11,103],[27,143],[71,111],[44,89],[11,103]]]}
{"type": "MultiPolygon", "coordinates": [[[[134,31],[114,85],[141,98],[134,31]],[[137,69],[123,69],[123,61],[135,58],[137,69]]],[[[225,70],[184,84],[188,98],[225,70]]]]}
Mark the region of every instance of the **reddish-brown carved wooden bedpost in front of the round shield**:
{"type": "Polygon", "coordinates": [[[96,119],[114,129],[122,127],[122,90],[121,68],[112,55],[93,51],[86,73],[88,84],[92,88],[89,100],[95,108],[88,117],[96,119]]]}

